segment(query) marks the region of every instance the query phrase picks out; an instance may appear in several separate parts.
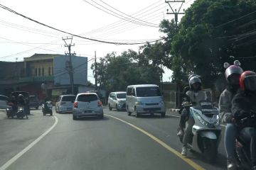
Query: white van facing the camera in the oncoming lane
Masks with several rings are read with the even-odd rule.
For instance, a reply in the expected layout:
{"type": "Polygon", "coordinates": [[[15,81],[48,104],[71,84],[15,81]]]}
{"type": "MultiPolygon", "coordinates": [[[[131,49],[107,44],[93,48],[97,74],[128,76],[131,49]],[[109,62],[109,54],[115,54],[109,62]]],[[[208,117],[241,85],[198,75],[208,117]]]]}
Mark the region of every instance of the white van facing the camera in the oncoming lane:
{"type": "Polygon", "coordinates": [[[159,86],[142,84],[127,86],[127,114],[135,113],[136,117],[142,114],[161,113],[164,117],[166,107],[159,86]]]}

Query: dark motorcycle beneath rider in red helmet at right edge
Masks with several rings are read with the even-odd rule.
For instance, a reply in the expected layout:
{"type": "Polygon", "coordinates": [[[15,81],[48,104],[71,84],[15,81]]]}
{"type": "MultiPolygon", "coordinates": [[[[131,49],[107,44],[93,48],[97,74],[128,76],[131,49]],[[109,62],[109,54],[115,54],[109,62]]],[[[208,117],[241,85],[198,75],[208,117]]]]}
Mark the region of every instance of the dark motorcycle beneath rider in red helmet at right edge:
{"type": "MultiPolygon", "coordinates": [[[[251,111],[249,118],[243,118],[241,122],[247,120],[256,121],[256,112],[251,111]]],[[[256,127],[253,127],[256,128],[256,127]]],[[[253,128],[242,128],[235,143],[235,154],[240,169],[252,169],[250,157],[250,130],[253,128]]]]}

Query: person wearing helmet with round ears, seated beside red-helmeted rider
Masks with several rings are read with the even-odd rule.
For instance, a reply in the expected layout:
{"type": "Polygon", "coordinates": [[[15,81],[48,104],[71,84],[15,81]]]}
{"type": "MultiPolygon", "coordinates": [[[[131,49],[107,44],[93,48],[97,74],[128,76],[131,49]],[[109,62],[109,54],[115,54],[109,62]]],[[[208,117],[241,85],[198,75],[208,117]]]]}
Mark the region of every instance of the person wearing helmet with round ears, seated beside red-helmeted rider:
{"type": "Polygon", "coordinates": [[[234,65],[230,65],[227,62],[224,64],[225,78],[228,81],[227,88],[220,94],[219,111],[220,118],[223,123],[227,123],[225,128],[224,145],[225,152],[227,154],[227,166],[228,169],[234,169],[235,164],[235,137],[237,135],[237,127],[233,123],[233,115],[231,113],[231,101],[233,96],[240,88],[239,79],[242,74],[242,68],[240,62],[235,61],[234,65]]]}

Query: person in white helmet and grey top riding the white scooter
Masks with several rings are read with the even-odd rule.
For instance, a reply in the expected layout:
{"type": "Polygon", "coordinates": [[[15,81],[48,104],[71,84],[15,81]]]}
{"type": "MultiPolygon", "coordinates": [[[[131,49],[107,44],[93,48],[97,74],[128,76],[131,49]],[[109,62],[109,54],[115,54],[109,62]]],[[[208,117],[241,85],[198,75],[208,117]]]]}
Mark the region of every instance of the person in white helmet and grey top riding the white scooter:
{"type": "MultiPolygon", "coordinates": [[[[186,92],[186,95],[188,96],[189,100],[193,105],[196,105],[197,103],[199,103],[199,101],[206,100],[207,98],[206,93],[204,93],[201,90],[201,84],[202,84],[201,79],[199,79],[197,75],[190,77],[188,84],[189,84],[190,90],[186,92]]],[[[188,116],[189,116],[189,111],[187,111],[186,109],[183,109],[181,111],[180,130],[177,134],[178,136],[184,134],[183,129],[185,128],[186,118],[188,116]]],[[[189,140],[191,140],[192,126],[193,125],[188,125],[188,128],[184,134],[183,147],[181,151],[181,154],[184,156],[187,153],[187,143],[189,142],[189,140]]]]}

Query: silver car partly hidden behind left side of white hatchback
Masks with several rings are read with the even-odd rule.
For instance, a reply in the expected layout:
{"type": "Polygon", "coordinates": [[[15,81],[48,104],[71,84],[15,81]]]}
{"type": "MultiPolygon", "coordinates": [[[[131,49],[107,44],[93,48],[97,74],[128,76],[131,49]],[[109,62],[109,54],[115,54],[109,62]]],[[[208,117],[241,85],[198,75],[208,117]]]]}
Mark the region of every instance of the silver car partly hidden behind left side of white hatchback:
{"type": "Polygon", "coordinates": [[[72,112],[75,97],[76,96],[72,94],[60,96],[55,104],[56,113],[72,112]]]}

